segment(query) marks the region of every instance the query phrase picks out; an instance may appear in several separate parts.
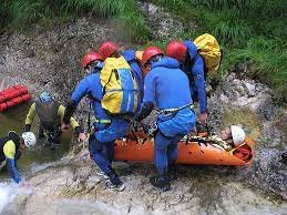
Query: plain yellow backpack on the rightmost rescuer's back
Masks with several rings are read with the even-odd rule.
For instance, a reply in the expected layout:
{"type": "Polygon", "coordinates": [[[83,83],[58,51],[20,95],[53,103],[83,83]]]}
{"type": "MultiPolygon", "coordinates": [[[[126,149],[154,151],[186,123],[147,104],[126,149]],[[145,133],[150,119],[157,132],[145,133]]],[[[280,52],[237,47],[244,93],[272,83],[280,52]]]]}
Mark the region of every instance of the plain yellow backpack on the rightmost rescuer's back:
{"type": "Polygon", "coordinates": [[[204,33],[194,40],[194,44],[204,59],[206,73],[217,72],[222,61],[222,50],[217,40],[212,34],[204,33]]]}

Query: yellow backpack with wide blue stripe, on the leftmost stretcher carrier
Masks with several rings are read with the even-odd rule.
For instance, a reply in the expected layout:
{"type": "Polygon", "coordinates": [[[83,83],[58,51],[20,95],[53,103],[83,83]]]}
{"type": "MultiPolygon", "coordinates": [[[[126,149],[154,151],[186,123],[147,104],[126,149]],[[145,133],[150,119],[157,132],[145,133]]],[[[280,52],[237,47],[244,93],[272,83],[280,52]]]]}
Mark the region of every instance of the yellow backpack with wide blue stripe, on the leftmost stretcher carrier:
{"type": "Polygon", "coordinates": [[[140,92],[136,79],[123,57],[107,58],[100,74],[103,86],[102,108],[112,115],[131,115],[137,111],[140,92]]]}

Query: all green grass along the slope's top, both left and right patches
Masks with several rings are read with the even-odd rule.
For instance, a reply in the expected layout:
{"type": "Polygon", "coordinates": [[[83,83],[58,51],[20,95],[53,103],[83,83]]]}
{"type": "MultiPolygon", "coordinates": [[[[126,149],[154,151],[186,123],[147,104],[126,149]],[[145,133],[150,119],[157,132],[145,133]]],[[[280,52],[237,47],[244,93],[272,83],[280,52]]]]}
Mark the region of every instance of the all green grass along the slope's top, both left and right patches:
{"type": "MultiPolygon", "coordinates": [[[[195,39],[209,32],[224,51],[221,79],[234,65],[248,68],[252,76],[264,78],[287,92],[287,1],[285,0],[150,0],[184,23],[176,38],[195,39]],[[196,23],[191,29],[191,22],[196,23]]],[[[131,41],[164,47],[170,38],[148,41],[150,29],[134,0],[2,0],[0,27],[22,29],[37,21],[54,22],[92,13],[124,24],[131,41]],[[2,25],[1,25],[2,24],[2,25]]]]}

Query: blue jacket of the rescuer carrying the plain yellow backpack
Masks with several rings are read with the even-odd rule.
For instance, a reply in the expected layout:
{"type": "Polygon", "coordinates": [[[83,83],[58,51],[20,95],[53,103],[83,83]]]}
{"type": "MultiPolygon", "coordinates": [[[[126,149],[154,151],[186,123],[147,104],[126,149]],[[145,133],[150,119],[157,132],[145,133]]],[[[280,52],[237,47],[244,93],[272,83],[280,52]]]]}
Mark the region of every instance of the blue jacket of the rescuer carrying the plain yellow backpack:
{"type": "Polygon", "coordinates": [[[186,40],[184,44],[187,48],[188,59],[182,69],[189,79],[192,96],[198,94],[201,113],[205,113],[207,111],[207,98],[205,91],[204,59],[198,54],[197,47],[191,40],[186,40]]]}

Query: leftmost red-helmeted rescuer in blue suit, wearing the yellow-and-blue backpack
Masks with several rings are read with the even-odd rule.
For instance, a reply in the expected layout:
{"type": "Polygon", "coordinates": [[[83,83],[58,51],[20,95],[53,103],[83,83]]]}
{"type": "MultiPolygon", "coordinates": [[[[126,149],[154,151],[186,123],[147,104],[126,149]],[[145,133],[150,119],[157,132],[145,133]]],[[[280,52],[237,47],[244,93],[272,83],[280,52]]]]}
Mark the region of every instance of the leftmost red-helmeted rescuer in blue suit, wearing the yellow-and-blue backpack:
{"type": "Polygon", "coordinates": [[[71,100],[68,102],[63,117],[62,130],[64,130],[83,96],[90,98],[93,106],[95,122],[93,123],[94,133],[89,139],[89,151],[91,158],[101,168],[98,174],[109,178],[109,188],[123,191],[125,185],[112,167],[114,157],[114,142],[123,137],[130,127],[130,121],[122,116],[112,116],[102,108],[103,86],[100,73],[103,69],[103,58],[100,53],[91,51],[86,53],[82,61],[83,69],[89,73],[75,88],[71,100]]]}

